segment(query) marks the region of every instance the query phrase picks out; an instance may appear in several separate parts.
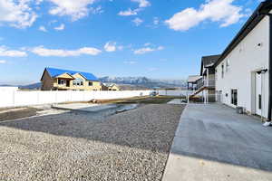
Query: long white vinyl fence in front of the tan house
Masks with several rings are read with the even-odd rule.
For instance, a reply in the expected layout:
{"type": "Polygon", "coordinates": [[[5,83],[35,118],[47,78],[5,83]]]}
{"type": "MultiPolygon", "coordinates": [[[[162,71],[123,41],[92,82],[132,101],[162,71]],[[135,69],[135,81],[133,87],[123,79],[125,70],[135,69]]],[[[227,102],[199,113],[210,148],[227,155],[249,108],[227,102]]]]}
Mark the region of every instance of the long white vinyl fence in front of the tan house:
{"type": "Polygon", "coordinates": [[[0,108],[61,103],[67,101],[112,100],[147,96],[151,90],[121,91],[13,91],[0,90],[0,108]]]}

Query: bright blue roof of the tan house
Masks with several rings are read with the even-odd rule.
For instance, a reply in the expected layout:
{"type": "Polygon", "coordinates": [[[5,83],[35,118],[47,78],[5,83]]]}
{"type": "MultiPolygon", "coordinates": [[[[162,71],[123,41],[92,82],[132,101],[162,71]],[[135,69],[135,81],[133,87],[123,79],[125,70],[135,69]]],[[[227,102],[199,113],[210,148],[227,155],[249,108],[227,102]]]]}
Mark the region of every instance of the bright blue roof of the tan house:
{"type": "Polygon", "coordinates": [[[61,75],[63,73],[68,73],[70,75],[74,75],[76,73],[80,73],[88,81],[99,81],[97,79],[97,77],[95,77],[92,73],[87,73],[87,72],[83,72],[83,71],[69,71],[69,70],[63,70],[63,69],[54,69],[54,68],[50,68],[50,67],[45,68],[45,70],[53,78],[57,77],[57,76],[59,76],[59,75],[61,75]]]}

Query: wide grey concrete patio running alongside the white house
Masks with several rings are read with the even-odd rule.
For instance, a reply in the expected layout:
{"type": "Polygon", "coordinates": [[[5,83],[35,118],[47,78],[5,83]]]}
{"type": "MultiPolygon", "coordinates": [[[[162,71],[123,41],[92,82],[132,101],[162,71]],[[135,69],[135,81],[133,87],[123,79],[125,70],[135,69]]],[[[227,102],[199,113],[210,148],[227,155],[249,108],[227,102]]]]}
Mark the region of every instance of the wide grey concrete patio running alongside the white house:
{"type": "Polygon", "coordinates": [[[271,181],[272,128],[228,107],[188,105],[162,181],[271,181]]]}

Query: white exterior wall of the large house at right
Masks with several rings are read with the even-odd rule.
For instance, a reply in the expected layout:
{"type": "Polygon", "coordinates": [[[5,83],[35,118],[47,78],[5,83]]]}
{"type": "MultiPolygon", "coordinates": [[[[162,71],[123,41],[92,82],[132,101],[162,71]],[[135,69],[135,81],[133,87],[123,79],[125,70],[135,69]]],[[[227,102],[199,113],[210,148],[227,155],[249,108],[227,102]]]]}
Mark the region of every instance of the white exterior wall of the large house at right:
{"type": "MultiPolygon", "coordinates": [[[[216,90],[221,91],[220,101],[231,107],[231,89],[238,90],[238,106],[255,114],[255,73],[268,69],[269,64],[269,18],[265,17],[248,33],[238,46],[216,67],[216,90]],[[258,43],[261,45],[258,46],[258,43]],[[227,62],[229,67],[227,70],[227,62]],[[222,78],[222,64],[224,77],[222,78]],[[228,96],[227,96],[228,95],[228,96]]],[[[263,74],[263,116],[267,118],[268,72],[263,74]]]]}

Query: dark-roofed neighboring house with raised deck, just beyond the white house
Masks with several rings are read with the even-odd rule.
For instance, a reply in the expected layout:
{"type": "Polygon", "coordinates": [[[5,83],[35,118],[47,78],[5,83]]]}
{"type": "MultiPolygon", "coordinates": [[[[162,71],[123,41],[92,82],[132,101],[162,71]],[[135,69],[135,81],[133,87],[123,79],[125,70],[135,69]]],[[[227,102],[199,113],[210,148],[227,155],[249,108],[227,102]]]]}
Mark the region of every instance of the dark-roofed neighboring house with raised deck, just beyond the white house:
{"type": "Polygon", "coordinates": [[[191,97],[202,95],[204,102],[214,102],[215,92],[215,63],[218,62],[220,55],[203,56],[201,58],[200,79],[194,82],[196,90],[191,97]]]}

